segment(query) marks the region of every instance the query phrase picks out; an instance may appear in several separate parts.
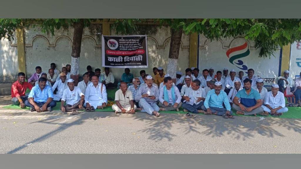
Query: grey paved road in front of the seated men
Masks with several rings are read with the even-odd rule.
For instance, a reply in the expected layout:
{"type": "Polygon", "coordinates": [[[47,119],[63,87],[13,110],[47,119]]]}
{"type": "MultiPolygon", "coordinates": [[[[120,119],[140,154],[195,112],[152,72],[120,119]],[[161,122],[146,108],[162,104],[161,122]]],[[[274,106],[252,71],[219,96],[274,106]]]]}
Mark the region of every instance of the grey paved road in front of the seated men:
{"type": "Polygon", "coordinates": [[[301,153],[301,120],[0,109],[0,153],[301,153]]]}

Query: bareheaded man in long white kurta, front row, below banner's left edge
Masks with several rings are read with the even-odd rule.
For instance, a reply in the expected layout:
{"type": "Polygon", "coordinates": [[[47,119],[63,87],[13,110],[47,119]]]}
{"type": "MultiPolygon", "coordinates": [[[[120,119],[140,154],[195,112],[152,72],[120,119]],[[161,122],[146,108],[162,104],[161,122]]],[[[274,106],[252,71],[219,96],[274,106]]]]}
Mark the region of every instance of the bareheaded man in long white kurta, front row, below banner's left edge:
{"type": "Polygon", "coordinates": [[[85,91],[86,112],[94,112],[95,109],[104,109],[107,106],[106,86],[99,83],[98,76],[92,75],[92,83],[88,84],[85,91]]]}

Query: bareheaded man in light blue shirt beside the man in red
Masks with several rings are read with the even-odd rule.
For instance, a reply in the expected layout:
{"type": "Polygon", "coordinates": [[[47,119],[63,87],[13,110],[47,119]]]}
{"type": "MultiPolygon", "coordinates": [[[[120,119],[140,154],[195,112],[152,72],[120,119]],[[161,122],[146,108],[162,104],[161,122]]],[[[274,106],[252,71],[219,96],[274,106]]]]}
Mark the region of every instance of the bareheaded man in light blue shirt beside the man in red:
{"type": "Polygon", "coordinates": [[[46,82],[46,78],[39,78],[39,85],[35,85],[31,89],[28,100],[25,101],[25,105],[30,107],[31,112],[46,110],[51,112],[51,108],[56,106],[56,102],[53,100],[52,88],[46,85],[46,82]]]}

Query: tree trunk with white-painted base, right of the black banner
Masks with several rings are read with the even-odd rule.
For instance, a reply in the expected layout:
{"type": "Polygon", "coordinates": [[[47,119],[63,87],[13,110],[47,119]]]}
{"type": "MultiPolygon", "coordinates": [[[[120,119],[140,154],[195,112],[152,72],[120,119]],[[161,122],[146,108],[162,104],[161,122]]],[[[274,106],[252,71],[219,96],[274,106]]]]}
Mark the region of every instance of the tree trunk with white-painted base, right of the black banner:
{"type": "Polygon", "coordinates": [[[179,58],[179,50],[182,39],[182,31],[183,29],[174,30],[171,32],[171,40],[169,47],[169,55],[168,55],[168,64],[167,64],[167,73],[173,79],[175,83],[176,72],[178,67],[178,58],[179,58]]]}

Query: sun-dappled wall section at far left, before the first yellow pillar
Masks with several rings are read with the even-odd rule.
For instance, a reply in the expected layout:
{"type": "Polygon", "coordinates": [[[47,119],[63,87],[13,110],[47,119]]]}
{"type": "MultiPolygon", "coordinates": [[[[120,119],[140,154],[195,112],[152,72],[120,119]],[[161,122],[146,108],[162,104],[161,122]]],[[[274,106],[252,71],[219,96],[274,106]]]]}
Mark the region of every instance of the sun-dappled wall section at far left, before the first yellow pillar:
{"type": "Polygon", "coordinates": [[[0,83],[14,82],[19,70],[17,47],[7,39],[0,40],[0,60],[0,83]]]}

